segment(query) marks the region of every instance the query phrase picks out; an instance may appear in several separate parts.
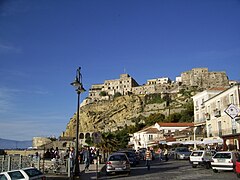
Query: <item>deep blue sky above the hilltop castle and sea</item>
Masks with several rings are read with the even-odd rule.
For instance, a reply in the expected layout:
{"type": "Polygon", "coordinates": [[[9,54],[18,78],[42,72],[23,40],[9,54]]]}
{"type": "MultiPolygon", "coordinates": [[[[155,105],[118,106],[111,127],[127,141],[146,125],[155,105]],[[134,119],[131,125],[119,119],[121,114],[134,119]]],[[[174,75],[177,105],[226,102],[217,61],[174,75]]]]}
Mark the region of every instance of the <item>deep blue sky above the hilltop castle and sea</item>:
{"type": "MultiPolygon", "coordinates": [[[[59,137],[93,84],[197,67],[240,80],[240,0],[0,0],[0,138],[59,137]]],[[[81,117],[80,117],[81,119],[81,117]]]]}

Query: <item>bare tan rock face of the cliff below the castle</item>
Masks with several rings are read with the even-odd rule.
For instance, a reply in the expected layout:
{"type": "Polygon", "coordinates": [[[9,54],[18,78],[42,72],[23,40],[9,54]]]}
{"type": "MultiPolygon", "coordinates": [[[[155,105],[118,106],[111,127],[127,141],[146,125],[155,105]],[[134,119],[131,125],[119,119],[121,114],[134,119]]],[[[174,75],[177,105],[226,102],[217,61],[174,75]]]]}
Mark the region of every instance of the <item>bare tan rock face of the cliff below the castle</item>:
{"type": "MultiPolygon", "coordinates": [[[[84,105],[80,108],[80,132],[115,131],[125,125],[134,125],[134,118],[149,116],[153,113],[168,115],[169,108],[165,102],[147,104],[144,95],[127,95],[109,101],[99,101],[84,105]]],[[[182,108],[171,109],[171,113],[179,112],[182,108]]],[[[76,113],[70,119],[64,132],[65,137],[75,136],[76,113]]]]}

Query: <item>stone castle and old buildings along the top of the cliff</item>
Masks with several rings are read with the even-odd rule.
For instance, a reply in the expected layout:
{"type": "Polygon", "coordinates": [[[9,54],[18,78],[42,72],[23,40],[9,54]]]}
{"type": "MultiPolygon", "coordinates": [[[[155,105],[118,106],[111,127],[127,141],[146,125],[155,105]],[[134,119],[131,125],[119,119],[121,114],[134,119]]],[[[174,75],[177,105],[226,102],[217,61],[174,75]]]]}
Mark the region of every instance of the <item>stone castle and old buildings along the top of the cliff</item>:
{"type": "Polygon", "coordinates": [[[100,100],[110,100],[118,95],[146,95],[154,93],[176,93],[184,87],[196,87],[209,89],[213,87],[229,87],[229,79],[226,72],[209,72],[208,68],[193,68],[181,73],[172,81],[168,77],[147,80],[146,84],[139,85],[129,74],[121,74],[119,79],[105,80],[103,84],[93,84],[89,89],[89,95],[83,104],[89,104],[100,100]]]}

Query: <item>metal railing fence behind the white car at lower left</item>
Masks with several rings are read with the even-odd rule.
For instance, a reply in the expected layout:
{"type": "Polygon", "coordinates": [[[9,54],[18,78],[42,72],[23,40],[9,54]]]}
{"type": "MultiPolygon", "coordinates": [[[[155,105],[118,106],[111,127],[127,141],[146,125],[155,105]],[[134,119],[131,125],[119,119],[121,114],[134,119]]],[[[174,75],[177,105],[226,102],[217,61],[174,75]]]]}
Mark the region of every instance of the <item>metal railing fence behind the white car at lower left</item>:
{"type": "Polygon", "coordinates": [[[36,156],[1,155],[0,172],[36,167],[44,173],[67,174],[69,172],[68,159],[42,159],[36,156]]]}

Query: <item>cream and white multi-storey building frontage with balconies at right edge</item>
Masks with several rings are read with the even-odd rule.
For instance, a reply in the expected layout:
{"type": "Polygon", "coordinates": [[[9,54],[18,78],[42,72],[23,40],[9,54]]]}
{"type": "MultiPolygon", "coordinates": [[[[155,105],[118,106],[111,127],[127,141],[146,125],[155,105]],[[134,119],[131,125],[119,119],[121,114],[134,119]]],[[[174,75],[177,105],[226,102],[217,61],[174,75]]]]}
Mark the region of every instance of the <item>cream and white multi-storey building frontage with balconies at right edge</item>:
{"type": "MultiPolygon", "coordinates": [[[[203,126],[204,133],[206,134],[206,137],[203,138],[206,142],[209,142],[209,144],[222,142],[224,150],[239,150],[239,114],[232,118],[229,116],[229,113],[227,113],[230,105],[235,107],[237,112],[240,109],[239,91],[239,85],[234,85],[219,93],[216,91],[216,95],[209,94],[209,92],[205,91],[193,97],[196,136],[199,127],[203,126]],[[202,97],[206,97],[203,102],[201,102],[202,97]],[[201,102],[200,107],[198,106],[199,100],[201,102]],[[199,110],[197,110],[198,108],[199,110]],[[200,125],[199,122],[202,122],[202,125],[200,125]]],[[[232,111],[232,109],[230,109],[230,111],[232,111]]]]}

